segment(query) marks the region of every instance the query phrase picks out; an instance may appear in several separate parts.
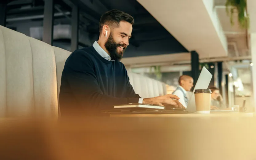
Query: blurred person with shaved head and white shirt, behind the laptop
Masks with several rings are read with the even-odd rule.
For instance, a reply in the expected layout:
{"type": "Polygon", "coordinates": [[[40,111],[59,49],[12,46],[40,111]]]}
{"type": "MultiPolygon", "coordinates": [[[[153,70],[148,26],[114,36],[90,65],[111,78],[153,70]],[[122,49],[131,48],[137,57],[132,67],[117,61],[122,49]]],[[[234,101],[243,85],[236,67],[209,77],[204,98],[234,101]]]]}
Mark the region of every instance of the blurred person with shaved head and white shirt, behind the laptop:
{"type": "Polygon", "coordinates": [[[188,75],[182,75],[179,77],[179,86],[177,89],[172,93],[176,96],[178,96],[179,102],[187,108],[188,105],[188,98],[187,98],[187,92],[191,90],[191,88],[194,86],[194,79],[188,75]]]}

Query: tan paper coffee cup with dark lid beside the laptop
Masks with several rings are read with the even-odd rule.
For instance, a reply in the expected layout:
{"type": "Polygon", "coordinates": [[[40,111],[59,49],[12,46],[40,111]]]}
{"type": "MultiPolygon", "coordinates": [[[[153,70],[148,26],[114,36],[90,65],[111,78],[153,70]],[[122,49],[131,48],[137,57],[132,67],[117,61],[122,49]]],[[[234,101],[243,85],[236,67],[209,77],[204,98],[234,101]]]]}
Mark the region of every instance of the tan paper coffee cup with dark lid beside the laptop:
{"type": "Polygon", "coordinates": [[[211,110],[211,90],[195,90],[195,103],[197,113],[210,113],[211,110]]]}

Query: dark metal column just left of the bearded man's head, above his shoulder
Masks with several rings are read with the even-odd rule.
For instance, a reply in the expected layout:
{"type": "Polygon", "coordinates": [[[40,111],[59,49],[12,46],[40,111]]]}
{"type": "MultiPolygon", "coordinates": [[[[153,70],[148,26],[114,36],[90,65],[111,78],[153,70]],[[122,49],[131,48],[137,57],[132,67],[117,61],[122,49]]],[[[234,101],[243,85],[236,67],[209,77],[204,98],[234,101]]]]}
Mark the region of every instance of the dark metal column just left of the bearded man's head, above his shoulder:
{"type": "Polygon", "coordinates": [[[77,5],[72,7],[71,20],[71,52],[78,48],[78,30],[79,30],[79,8],[77,5]]]}

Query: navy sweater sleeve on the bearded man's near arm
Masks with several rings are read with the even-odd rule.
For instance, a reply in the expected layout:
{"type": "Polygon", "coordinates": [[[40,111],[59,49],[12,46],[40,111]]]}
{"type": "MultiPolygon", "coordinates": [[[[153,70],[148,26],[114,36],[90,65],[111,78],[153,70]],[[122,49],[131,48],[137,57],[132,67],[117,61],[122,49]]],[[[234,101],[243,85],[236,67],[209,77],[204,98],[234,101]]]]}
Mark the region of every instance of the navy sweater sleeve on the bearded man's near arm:
{"type": "Polygon", "coordinates": [[[75,100],[80,106],[93,107],[93,109],[112,109],[114,105],[138,102],[139,98],[135,96],[115,98],[104,95],[98,85],[91,58],[84,51],[77,50],[75,52],[66,64],[64,73],[75,100]]]}

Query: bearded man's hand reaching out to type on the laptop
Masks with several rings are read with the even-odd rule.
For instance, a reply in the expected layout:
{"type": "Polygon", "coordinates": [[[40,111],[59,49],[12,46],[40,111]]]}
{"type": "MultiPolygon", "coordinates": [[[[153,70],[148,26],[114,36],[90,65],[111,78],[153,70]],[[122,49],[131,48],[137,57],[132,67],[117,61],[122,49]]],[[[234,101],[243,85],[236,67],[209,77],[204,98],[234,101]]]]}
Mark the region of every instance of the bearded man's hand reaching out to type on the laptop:
{"type": "Polygon", "coordinates": [[[179,101],[176,95],[166,94],[164,96],[158,96],[154,98],[143,98],[144,104],[153,104],[160,106],[173,106],[174,108],[185,108],[179,101]]]}

